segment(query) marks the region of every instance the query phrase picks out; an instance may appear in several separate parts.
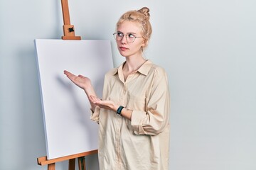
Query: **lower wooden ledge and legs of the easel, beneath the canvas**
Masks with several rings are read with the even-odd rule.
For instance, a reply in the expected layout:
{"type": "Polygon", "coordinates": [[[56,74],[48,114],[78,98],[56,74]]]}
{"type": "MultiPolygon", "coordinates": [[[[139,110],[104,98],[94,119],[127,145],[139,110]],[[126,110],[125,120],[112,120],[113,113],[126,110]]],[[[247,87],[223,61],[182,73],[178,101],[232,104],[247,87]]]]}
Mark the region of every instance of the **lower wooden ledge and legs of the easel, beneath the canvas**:
{"type": "Polygon", "coordinates": [[[47,157],[38,157],[38,165],[48,165],[48,170],[55,170],[56,162],[63,162],[68,160],[68,170],[75,170],[75,159],[78,158],[79,170],[86,170],[85,156],[90,154],[97,154],[97,150],[89,152],[82,152],[80,154],[73,154],[66,157],[60,157],[55,159],[47,159],[47,157]]]}

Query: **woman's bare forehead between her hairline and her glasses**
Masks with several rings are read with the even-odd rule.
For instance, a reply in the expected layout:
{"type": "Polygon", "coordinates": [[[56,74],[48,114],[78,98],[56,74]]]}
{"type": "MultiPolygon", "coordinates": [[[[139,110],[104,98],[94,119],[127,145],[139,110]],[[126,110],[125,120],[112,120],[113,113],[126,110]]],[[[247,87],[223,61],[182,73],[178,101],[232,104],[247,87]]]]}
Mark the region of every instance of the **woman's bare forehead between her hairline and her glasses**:
{"type": "Polygon", "coordinates": [[[139,23],[132,22],[132,21],[123,21],[117,27],[117,30],[121,31],[122,33],[141,33],[142,28],[139,23]]]}

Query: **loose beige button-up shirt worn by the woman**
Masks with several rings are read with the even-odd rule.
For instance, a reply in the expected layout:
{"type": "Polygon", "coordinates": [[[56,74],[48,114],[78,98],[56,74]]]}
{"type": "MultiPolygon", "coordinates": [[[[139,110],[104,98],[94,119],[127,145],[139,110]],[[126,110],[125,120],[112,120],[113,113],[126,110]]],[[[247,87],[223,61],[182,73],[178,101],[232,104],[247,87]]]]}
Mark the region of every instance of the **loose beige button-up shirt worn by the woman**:
{"type": "Polygon", "coordinates": [[[147,60],[124,81],[124,63],[107,72],[103,100],[132,110],[132,120],[95,108],[101,170],[167,170],[170,96],[166,72],[147,60]]]}

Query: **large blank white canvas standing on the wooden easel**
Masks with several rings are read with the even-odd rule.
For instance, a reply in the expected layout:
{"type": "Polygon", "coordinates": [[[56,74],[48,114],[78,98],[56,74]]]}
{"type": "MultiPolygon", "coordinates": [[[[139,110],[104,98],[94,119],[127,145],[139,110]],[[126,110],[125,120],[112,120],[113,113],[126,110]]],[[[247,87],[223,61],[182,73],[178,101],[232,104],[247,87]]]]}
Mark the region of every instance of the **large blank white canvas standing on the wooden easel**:
{"type": "Polygon", "coordinates": [[[85,92],[63,74],[89,77],[101,97],[113,68],[110,40],[35,40],[48,159],[98,148],[85,92]]]}

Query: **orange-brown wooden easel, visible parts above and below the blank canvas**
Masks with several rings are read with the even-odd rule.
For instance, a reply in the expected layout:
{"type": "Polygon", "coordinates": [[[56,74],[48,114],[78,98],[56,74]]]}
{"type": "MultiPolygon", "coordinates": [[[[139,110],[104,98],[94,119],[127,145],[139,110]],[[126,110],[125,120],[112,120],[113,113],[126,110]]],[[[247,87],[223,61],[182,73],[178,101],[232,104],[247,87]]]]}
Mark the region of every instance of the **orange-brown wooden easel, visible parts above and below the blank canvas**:
{"type": "MultiPolygon", "coordinates": [[[[64,36],[61,38],[63,40],[81,40],[80,36],[75,36],[75,28],[70,25],[70,15],[68,11],[68,0],[61,0],[61,6],[63,11],[63,32],[64,36]]],[[[85,156],[90,154],[97,154],[97,149],[89,152],[82,152],[80,154],[68,155],[66,157],[59,157],[55,159],[47,159],[47,157],[38,157],[38,165],[48,165],[48,170],[55,170],[56,162],[63,162],[68,160],[68,170],[75,170],[75,159],[78,158],[79,170],[85,170],[85,156]]]]}

